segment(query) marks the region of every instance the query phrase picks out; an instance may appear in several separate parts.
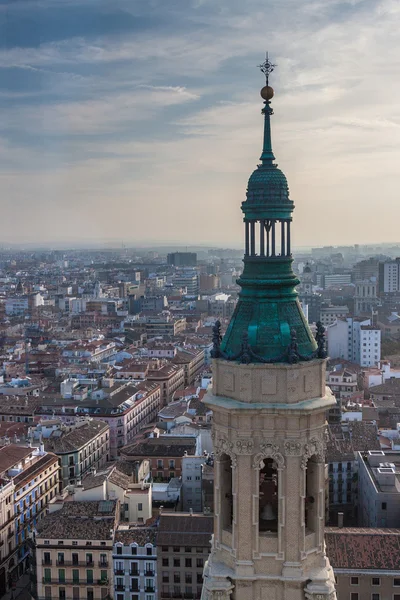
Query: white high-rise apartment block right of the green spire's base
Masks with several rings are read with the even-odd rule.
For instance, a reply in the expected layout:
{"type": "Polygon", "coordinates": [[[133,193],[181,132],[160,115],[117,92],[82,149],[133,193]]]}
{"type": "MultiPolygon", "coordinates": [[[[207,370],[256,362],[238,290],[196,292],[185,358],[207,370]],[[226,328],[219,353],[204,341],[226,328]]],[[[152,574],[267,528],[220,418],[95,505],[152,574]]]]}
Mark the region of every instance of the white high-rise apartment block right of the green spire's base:
{"type": "Polygon", "coordinates": [[[347,317],[337,319],[327,329],[330,358],[343,358],[372,367],[381,360],[381,331],[371,319],[347,317]]]}

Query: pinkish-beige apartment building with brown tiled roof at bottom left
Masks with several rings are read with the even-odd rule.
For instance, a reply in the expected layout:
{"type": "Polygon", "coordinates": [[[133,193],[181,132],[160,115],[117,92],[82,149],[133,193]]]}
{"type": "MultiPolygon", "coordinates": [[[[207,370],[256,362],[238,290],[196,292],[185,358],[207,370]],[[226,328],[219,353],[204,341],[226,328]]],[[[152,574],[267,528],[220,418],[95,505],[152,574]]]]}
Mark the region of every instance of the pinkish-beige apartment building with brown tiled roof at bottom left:
{"type": "Polygon", "coordinates": [[[46,600],[113,597],[117,500],[65,502],[36,531],[37,594],[46,600]]]}

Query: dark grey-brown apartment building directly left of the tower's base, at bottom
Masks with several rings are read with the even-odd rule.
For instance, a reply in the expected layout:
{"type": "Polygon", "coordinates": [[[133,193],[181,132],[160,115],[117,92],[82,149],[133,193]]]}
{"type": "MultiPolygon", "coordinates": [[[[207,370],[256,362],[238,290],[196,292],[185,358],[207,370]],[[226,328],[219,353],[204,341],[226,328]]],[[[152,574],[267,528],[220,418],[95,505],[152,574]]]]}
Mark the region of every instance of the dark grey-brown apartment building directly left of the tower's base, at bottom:
{"type": "Polygon", "coordinates": [[[157,535],[159,600],[199,599],[211,550],[214,519],[191,513],[162,513],[157,535]]]}

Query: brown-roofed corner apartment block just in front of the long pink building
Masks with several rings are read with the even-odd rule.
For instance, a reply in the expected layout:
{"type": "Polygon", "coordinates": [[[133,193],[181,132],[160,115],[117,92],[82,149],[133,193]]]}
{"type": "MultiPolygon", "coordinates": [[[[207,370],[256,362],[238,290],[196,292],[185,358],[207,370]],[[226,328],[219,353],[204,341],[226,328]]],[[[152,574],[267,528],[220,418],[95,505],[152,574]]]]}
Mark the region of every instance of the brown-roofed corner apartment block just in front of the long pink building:
{"type": "Polygon", "coordinates": [[[110,427],[97,419],[77,421],[52,432],[44,447],[60,458],[61,483],[66,487],[110,460],[110,427]]]}

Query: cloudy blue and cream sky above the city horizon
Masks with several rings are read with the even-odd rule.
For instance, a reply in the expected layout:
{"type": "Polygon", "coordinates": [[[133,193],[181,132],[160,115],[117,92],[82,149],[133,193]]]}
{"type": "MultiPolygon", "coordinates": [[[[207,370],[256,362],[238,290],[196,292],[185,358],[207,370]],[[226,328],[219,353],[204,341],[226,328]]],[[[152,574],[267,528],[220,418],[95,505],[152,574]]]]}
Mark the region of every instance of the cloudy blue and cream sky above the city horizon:
{"type": "Polygon", "coordinates": [[[297,246],[400,241],[398,0],[0,0],[0,245],[241,247],[272,139],[297,246]]]}

